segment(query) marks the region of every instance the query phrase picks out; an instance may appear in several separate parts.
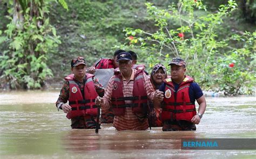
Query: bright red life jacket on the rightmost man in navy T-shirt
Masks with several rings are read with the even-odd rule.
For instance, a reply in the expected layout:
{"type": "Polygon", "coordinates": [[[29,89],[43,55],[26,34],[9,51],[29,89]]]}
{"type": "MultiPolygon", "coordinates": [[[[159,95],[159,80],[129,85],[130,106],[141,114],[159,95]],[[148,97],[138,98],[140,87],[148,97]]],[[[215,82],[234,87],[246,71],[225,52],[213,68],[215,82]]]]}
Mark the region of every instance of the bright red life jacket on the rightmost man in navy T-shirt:
{"type": "Polygon", "coordinates": [[[164,82],[165,95],[164,105],[161,112],[161,120],[187,120],[191,121],[196,112],[196,105],[191,103],[188,90],[194,81],[190,76],[185,76],[180,83],[178,91],[175,92],[171,78],[166,78],[164,82]]]}

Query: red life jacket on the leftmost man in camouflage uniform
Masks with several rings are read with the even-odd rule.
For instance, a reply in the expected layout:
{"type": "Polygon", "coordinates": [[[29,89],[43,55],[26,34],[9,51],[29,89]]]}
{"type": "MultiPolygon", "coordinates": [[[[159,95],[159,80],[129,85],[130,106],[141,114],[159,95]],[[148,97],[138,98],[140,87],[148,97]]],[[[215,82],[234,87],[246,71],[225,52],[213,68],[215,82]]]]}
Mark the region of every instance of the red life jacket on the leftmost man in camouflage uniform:
{"type": "Polygon", "coordinates": [[[71,74],[65,79],[69,81],[69,105],[71,112],[66,117],[68,119],[79,117],[81,115],[97,115],[97,106],[95,105],[95,98],[98,96],[94,83],[92,81],[92,74],[86,74],[86,82],[84,84],[84,96],[75,81],[74,75],[71,74]]]}

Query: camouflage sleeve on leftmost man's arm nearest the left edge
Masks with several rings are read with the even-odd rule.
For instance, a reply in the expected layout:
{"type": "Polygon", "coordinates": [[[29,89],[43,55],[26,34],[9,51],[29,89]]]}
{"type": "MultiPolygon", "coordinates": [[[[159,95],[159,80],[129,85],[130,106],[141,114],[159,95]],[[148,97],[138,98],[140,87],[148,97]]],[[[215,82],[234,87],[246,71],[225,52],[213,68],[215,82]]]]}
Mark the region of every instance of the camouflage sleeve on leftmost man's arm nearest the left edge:
{"type": "Polygon", "coordinates": [[[56,102],[56,107],[59,111],[59,109],[62,109],[60,106],[64,103],[67,103],[69,99],[69,81],[65,81],[64,84],[62,85],[62,89],[60,90],[59,93],[59,98],[57,99],[56,102]]]}

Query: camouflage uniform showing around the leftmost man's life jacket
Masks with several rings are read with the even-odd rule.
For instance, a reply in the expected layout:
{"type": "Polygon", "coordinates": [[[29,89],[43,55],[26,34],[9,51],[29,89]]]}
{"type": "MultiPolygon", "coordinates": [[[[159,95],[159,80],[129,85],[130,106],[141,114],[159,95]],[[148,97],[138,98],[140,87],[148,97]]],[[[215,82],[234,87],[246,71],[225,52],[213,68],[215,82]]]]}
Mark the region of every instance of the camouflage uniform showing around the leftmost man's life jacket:
{"type": "MultiPolygon", "coordinates": [[[[104,88],[98,82],[97,78],[92,77],[93,84],[97,94],[102,97],[104,95],[104,88]]],[[[84,77],[83,82],[79,82],[76,79],[73,80],[80,88],[81,92],[84,92],[84,85],[87,81],[86,76],[84,77]]],[[[56,102],[57,109],[62,109],[61,105],[67,103],[70,97],[70,82],[65,81],[62,89],[60,90],[59,98],[56,102]]],[[[80,117],[71,118],[71,127],[72,128],[96,128],[95,120],[96,115],[91,118],[91,115],[82,115],[80,117]]]]}

